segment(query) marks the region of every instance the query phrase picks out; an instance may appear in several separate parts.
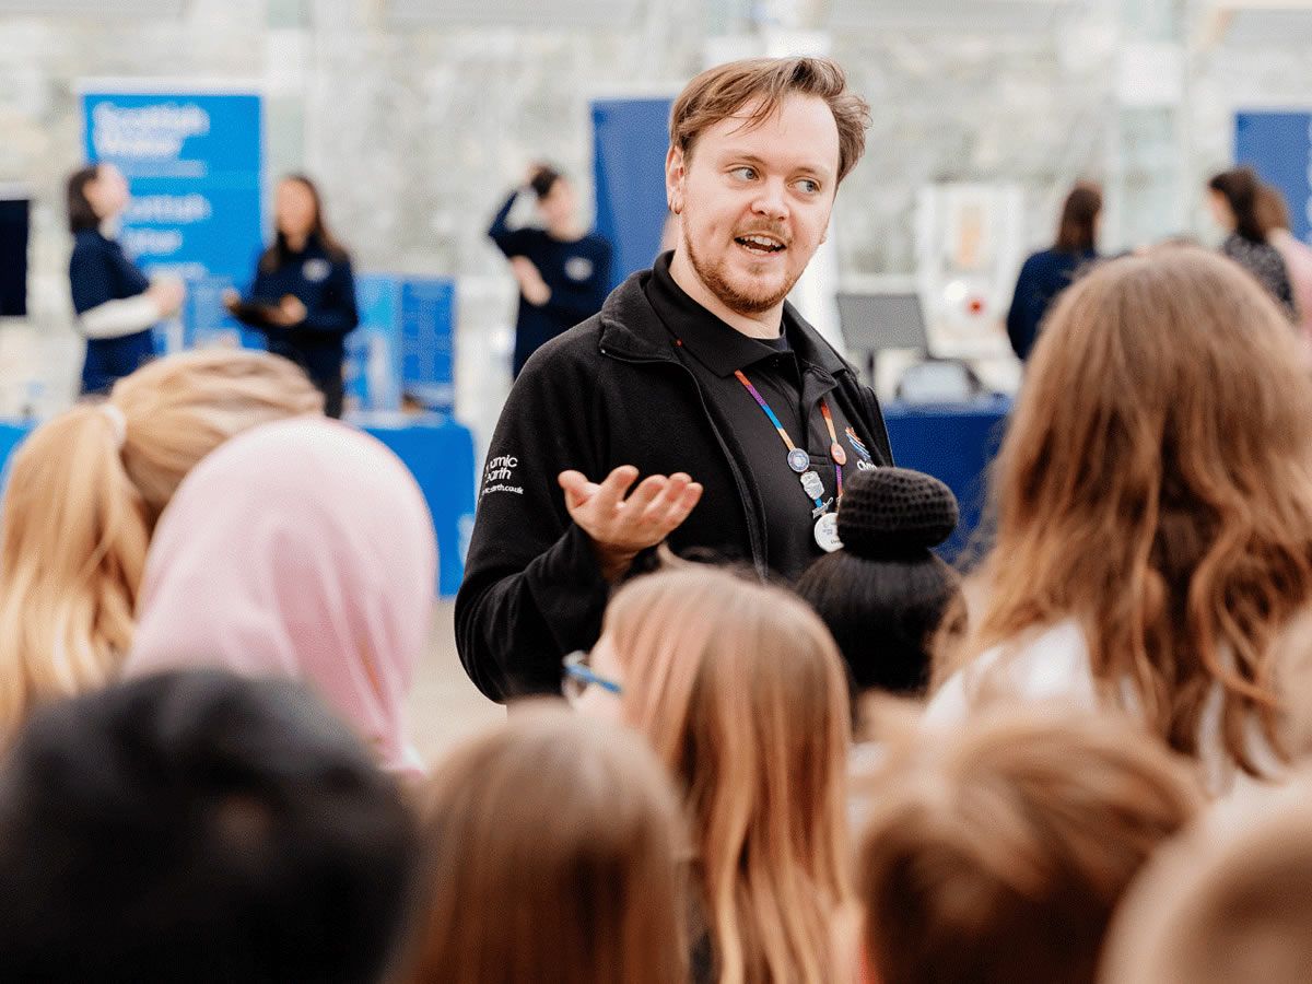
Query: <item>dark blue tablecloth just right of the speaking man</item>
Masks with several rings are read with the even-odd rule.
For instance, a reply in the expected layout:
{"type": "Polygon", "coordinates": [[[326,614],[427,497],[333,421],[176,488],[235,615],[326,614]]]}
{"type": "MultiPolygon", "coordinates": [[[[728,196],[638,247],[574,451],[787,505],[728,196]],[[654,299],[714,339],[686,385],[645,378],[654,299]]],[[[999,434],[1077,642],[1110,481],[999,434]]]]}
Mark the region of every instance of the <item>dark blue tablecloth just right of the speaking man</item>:
{"type": "Polygon", "coordinates": [[[988,471],[1010,409],[1012,400],[1005,396],[962,404],[883,404],[893,461],[933,475],[956,495],[962,518],[939,550],[947,560],[968,560],[981,546],[972,541],[981,534],[988,471]]]}

